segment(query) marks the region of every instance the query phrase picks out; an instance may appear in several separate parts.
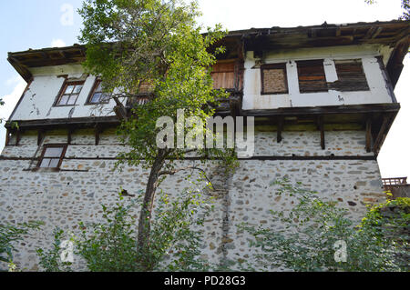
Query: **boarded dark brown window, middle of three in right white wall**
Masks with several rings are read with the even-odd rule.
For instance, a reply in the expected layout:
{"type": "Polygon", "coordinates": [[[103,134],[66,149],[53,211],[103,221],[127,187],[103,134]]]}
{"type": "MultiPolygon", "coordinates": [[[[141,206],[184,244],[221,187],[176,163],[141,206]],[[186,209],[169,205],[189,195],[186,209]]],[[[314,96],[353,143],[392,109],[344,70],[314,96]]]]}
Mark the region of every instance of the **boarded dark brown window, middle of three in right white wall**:
{"type": "Polygon", "coordinates": [[[327,92],[323,59],[297,61],[299,91],[301,93],[327,92]]]}

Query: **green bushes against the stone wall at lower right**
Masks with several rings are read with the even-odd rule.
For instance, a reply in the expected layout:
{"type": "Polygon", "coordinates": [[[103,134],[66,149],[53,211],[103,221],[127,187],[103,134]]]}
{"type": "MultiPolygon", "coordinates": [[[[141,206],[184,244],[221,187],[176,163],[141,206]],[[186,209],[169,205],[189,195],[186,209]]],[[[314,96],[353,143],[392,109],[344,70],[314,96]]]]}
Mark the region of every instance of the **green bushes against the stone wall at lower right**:
{"type": "Polygon", "coordinates": [[[386,205],[408,206],[408,200],[369,208],[362,223],[354,226],[354,221],[346,216],[347,210],[337,202],[323,201],[315,192],[286,179],[274,184],[281,186],[278,195],[295,196],[298,203],[288,213],[272,211],[272,221],[277,226],[241,226],[254,236],[251,246],[259,248],[257,260],[265,269],[284,266],[294,271],[408,270],[408,233],[400,229],[409,225],[409,215],[385,219],[380,214],[386,205]],[[337,241],[346,245],[346,262],[335,261],[337,241]]]}

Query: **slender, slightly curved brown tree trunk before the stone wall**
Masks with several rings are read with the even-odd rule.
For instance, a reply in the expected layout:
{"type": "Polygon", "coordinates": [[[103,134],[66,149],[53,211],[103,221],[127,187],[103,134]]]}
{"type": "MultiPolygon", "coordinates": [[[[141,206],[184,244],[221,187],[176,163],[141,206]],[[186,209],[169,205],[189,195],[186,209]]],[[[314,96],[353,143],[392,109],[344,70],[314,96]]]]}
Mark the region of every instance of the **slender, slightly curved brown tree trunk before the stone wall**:
{"type": "Polygon", "coordinates": [[[149,232],[151,228],[151,215],[152,207],[154,205],[155,193],[158,187],[159,181],[159,171],[165,163],[166,157],[165,149],[159,149],[159,154],[154,161],[154,164],[151,167],[149,172],[149,180],[147,183],[147,188],[145,190],[144,201],[142,203],[141,211],[139,213],[138,221],[138,254],[139,258],[142,260],[139,261],[141,265],[145,268],[146,271],[152,270],[152,265],[149,261],[149,232]]]}

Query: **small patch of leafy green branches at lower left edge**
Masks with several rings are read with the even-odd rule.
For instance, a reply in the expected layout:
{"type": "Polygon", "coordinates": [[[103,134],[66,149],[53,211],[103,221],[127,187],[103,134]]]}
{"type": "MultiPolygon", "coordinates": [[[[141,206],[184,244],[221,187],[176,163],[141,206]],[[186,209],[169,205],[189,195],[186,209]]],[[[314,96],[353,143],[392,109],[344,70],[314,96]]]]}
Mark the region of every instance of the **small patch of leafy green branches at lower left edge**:
{"type": "Polygon", "coordinates": [[[29,235],[30,230],[38,229],[42,222],[28,222],[17,225],[0,225],[0,261],[13,262],[13,252],[16,251],[15,243],[23,240],[24,235],[29,235]]]}

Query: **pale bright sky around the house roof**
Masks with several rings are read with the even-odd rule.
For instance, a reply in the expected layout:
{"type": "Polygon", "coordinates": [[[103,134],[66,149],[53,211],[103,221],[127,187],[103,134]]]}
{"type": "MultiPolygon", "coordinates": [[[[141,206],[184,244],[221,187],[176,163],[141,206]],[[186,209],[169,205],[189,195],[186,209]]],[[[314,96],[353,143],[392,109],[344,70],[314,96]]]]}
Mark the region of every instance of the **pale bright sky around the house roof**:
{"type": "MultiPolygon", "coordinates": [[[[220,23],[229,30],[251,27],[294,27],[299,25],[343,24],[389,21],[402,14],[400,0],[200,0],[206,26],[220,23]]],[[[64,46],[78,43],[81,18],[77,8],[81,0],[13,0],[0,1],[0,117],[8,118],[22,94],[26,82],[6,61],[7,52],[28,48],[64,46]],[[70,12],[73,11],[71,16],[70,12]]],[[[402,108],[395,118],[378,156],[383,177],[410,176],[410,57],[395,87],[402,108]]],[[[0,126],[0,150],[5,143],[5,129],[0,126]]]]}

